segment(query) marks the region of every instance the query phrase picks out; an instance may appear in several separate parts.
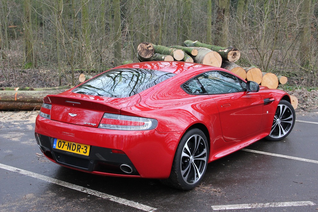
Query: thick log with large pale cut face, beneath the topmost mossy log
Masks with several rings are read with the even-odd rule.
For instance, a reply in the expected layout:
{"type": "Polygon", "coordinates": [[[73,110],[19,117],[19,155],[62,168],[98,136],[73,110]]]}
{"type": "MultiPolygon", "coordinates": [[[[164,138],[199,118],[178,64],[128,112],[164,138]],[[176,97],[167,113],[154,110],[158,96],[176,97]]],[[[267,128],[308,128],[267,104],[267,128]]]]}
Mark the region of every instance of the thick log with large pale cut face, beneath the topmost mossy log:
{"type": "Polygon", "coordinates": [[[198,50],[198,54],[192,57],[195,63],[221,67],[222,57],[218,52],[204,47],[196,47],[196,49],[198,50]]]}

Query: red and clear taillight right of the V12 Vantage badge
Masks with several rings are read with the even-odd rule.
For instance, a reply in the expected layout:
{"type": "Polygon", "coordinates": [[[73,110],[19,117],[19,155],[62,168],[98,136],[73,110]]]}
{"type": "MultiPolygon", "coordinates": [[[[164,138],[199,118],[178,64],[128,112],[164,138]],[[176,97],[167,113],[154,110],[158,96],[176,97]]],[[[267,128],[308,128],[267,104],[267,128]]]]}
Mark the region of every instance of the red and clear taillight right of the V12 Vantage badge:
{"type": "Polygon", "coordinates": [[[152,130],[157,125],[158,121],[156,119],[104,113],[98,128],[112,130],[152,130]]]}

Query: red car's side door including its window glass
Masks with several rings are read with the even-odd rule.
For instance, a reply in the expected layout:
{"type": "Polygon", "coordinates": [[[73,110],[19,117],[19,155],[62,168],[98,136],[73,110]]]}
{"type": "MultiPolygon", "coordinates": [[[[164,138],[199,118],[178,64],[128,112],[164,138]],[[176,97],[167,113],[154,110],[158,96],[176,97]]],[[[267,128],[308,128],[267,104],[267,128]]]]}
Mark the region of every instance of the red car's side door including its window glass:
{"type": "Polygon", "coordinates": [[[264,105],[259,92],[247,92],[246,83],[228,72],[206,72],[197,79],[217,104],[225,141],[259,131],[264,105]]]}

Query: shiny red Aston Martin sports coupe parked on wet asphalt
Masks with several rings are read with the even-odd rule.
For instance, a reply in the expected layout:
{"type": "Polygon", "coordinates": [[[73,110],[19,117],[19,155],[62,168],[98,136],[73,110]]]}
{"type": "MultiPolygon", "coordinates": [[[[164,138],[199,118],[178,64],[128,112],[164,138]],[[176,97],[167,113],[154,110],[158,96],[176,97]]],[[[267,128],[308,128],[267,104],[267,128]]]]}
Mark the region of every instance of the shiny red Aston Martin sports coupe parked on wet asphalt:
{"type": "Polygon", "coordinates": [[[262,138],[281,140],[295,122],[286,92],[176,61],[121,65],[43,101],[35,137],[49,160],[184,190],[209,162],[262,138]]]}

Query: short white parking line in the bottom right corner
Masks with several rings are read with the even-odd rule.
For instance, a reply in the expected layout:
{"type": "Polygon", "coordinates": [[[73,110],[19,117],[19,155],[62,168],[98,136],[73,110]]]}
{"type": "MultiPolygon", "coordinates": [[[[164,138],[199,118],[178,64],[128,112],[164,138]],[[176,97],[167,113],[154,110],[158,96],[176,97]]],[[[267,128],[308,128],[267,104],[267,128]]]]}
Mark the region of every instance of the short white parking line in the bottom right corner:
{"type": "Polygon", "coordinates": [[[308,206],[316,205],[314,202],[269,202],[269,203],[254,203],[241,205],[212,205],[213,210],[232,210],[232,209],[250,209],[250,208],[269,208],[269,207],[287,207],[287,206],[308,206]]]}

